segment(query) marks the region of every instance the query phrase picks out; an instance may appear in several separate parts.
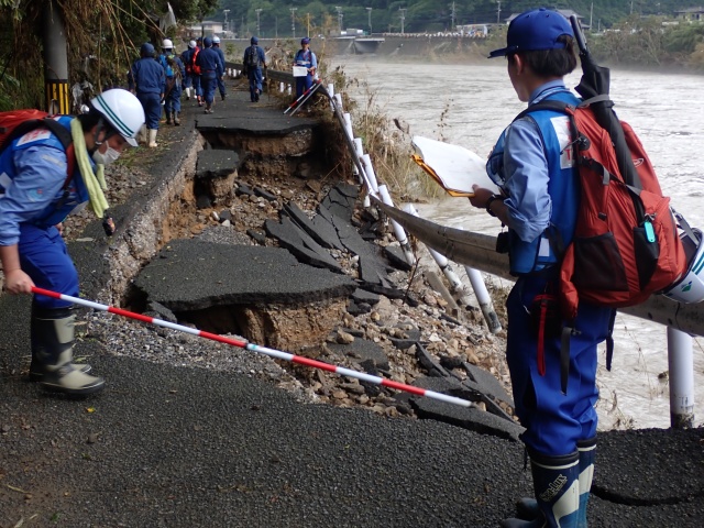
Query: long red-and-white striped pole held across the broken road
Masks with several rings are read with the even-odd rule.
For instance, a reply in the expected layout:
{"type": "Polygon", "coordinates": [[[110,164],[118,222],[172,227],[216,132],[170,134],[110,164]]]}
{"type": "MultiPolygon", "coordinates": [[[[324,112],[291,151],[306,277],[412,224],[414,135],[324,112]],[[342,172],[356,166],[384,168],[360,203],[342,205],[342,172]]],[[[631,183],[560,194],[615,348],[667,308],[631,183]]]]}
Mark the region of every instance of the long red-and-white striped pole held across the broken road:
{"type": "Polygon", "coordinates": [[[234,346],[239,346],[240,349],[249,350],[251,352],[257,352],[260,354],[265,354],[271,358],[276,358],[277,360],[289,361],[292,363],[298,363],[299,365],[306,365],[312,369],[320,369],[321,371],[333,372],[341,376],[355,377],[358,380],[362,380],[363,382],[373,383],[375,385],[383,385],[385,387],[395,388],[396,391],[403,391],[403,392],[415,394],[418,396],[425,396],[426,398],[438,399],[440,402],[460,405],[462,407],[474,406],[472,402],[466,399],[458,398],[454,396],[448,396],[447,394],[437,393],[435,391],[427,391],[420,387],[414,387],[413,385],[406,385],[405,383],[394,382],[385,377],[372,376],[371,374],[365,374],[364,372],[358,372],[351,369],[345,369],[343,366],[331,365],[329,363],[323,363],[322,361],[304,358],[302,355],[294,355],[288,352],[282,352],[279,350],[268,349],[266,346],[260,346],[258,344],[253,344],[248,341],[241,341],[239,339],[232,339],[232,338],[224,338],[222,336],[218,336],[217,333],[210,333],[202,330],[198,330],[197,328],[189,328],[183,324],[177,324],[175,322],[164,321],[163,319],[156,319],[154,317],[144,316],[142,314],[135,314],[133,311],[123,310],[122,308],[100,305],[91,300],[80,299],[78,297],[72,297],[70,295],[58,294],[50,289],[37,288],[34,286],[32,287],[32,292],[36,295],[45,295],[46,297],[53,297],[54,299],[66,300],[67,302],[73,302],[75,305],[81,305],[88,308],[94,308],[96,310],[108,311],[110,314],[128,317],[130,319],[136,319],[138,321],[148,322],[150,324],[170,328],[172,330],[178,330],[180,332],[190,333],[191,336],[198,336],[200,338],[210,339],[212,341],[218,341],[220,343],[232,344],[234,346]]]}

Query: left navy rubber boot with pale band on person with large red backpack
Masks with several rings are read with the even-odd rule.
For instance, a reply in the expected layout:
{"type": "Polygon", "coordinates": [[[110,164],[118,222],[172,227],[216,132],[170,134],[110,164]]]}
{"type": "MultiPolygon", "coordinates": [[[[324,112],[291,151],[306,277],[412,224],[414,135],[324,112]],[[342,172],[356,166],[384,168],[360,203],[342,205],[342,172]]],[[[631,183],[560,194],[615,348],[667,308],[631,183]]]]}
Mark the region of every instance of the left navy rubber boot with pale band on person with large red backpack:
{"type": "Polygon", "coordinates": [[[580,509],[580,465],[575,451],[562,457],[530,455],[534,490],[540,515],[510,518],[503,528],[576,528],[580,509]]]}

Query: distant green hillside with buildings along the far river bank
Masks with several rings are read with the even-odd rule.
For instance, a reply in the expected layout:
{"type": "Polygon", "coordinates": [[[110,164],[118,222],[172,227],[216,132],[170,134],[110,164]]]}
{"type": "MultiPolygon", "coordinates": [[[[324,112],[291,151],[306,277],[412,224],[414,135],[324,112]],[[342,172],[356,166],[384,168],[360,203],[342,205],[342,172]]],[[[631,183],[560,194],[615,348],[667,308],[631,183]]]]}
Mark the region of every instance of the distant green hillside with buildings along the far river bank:
{"type": "MultiPolygon", "coordinates": [[[[220,0],[210,19],[224,21],[228,10],[230,30],[243,36],[302,36],[326,34],[340,29],[373,33],[451,31],[455,25],[505,23],[512,13],[543,4],[571,9],[592,21],[595,29],[610,28],[630,14],[672,14],[695,7],[686,0],[220,0]],[[258,11],[258,13],[257,13],[258,11]]],[[[701,2],[700,2],[701,3],[701,2]]]]}

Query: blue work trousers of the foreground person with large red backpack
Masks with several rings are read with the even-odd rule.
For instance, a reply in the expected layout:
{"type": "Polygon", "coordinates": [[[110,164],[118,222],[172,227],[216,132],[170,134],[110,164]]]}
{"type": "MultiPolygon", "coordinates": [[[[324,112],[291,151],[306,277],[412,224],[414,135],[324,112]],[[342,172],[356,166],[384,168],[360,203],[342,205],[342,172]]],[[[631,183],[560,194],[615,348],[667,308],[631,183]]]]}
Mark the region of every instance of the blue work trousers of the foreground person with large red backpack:
{"type": "Polygon", "coordinates": [[[506,360],[516,415],[526,428],[521,440],[529,450],[560,457],[576,451],[579,440],[596,435],[596,346],[608,334],[612,309],[580,302],[575,320],[579,333],[570,338],[569,378],[563,394],[560,336],[546,337],[544,374],[539,372],[537,308],[531,304],[537,295],[546,293],[547,283],[539,274],[527,275],[512,289],[506,300],[506,360]]]}

